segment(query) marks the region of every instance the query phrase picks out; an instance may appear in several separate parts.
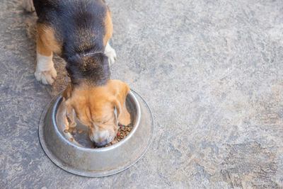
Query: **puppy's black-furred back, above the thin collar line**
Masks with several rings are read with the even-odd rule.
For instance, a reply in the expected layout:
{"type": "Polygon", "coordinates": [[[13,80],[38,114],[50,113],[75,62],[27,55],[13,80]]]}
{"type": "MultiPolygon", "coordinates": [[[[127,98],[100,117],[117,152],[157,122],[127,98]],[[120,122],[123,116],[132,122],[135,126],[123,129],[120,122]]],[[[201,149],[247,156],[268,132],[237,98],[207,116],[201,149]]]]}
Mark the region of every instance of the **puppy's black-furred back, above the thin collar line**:
{"type": "Polygon", "coordinates": [[[50,25],[64,55],[103,52],[105,15],[108,7],[100,0],[34,0],[38,23],[50,25]]]}

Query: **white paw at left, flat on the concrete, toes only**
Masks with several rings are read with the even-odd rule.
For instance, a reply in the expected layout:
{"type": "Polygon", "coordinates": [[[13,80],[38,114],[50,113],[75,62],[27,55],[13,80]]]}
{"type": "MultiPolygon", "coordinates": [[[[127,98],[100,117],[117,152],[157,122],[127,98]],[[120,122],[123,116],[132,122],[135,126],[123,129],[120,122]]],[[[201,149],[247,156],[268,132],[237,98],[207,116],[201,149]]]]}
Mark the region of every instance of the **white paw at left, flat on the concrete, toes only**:
{"type": "Polygon", "coordinates": [[[48,70],[48,71],[39,71],[39,70],[35,70],[35,79],[37,81],[41,81],[42,84],[50,84],[52,85],[54,82],[54,79],[57,78],[57,71],[56,69],[54,69],[54,67],[52,67],[52,69],[48,70]]]}

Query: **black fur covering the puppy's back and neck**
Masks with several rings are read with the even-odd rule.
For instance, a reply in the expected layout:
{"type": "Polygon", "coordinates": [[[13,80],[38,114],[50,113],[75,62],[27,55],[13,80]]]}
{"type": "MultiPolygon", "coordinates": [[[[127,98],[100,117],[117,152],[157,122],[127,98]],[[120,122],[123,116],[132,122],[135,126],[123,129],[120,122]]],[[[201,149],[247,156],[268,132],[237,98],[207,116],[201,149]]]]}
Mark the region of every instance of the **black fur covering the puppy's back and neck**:
{"type": "Polygon", "coordinates": [[[87,82],[103,85],[110,79],[108,57],[104,52],[105,15],[108,7],[101,0],[33,0],[38,23],[55,31],[62,45],[62,58],[74,85],[87,82]]]}

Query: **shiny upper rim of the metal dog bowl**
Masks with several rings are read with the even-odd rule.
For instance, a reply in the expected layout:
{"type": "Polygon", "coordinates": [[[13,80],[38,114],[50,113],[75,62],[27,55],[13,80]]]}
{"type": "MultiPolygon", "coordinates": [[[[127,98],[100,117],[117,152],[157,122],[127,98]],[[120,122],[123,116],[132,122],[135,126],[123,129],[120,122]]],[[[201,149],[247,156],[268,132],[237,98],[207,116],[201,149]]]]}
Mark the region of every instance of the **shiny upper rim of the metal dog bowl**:
{"type": "MultiPolygon", "coordinates": [[[[61,94],[61,93],[60,93],[61,94]]],[[[120,142],[117,142],[116,144],[112,144],[111,146],[108,147],[102,147],[102,148],[97,148],[97,149],[91,149],[88,147],[82,147],[76,144],[73,144],[72,142],[70,142],[68,139],[66,139],[61,132],[59,132],[59,129],[57,127],[57,122],[56,122],[56,113],[57,113],[57,108],[59,105],[59,102],[63,100],[62,95],[59,96],[59,98],[57,99],[57,101],[54,103],[54,106],[52,108],[52,126],[54,127],[54,130],[56,132],[56,134],[62,138],[64,140],[64,142],[67,142],[67,144],[71,145],[72,147],[75,147],[81,151],[108,151],[111,149],[115,149],[116,147],[121,146],[122,144],[124,144],[125,142],[127,142],[127,140],[129,140],[130,137],[132,137],[132,135],[134,134],[134,132],[136,132],[137,127],[139,127],[139,122],[141,120],[141,108],[139,105],[139,101],[137,101],[136,96],[134,96],[134,93],[132,93],[132,90],[129,91],[128,95],[131,96],[131,98],[134,100],[134,105],[136,106],[137,109],[137,120],[135,122],[135,124],[133,125],[133,129],[131,132],[129,132],[129,134],[122,140],[120,140],[120,142]]],[[[87,126],[86,126],[87,127],[87,126]]],[[[119,127],[119,126],[118,126],[119,127]]]]}

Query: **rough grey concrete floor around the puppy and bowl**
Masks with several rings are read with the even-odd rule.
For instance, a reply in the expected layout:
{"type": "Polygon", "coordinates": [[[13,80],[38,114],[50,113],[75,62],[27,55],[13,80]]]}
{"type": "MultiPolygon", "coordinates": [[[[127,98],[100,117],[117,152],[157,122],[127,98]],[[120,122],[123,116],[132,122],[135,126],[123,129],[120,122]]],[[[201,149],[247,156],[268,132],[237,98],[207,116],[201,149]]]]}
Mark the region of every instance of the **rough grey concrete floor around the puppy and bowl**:
{"type": "Polygon", "coordinates": [[[105,178],[47,158],[40,115],[64,89],[35,81],[35,13],[0,1],[0,188],[282,188],[283,2],[110,0],[117,62],[154,115],[145,156],[105,178]]]}

